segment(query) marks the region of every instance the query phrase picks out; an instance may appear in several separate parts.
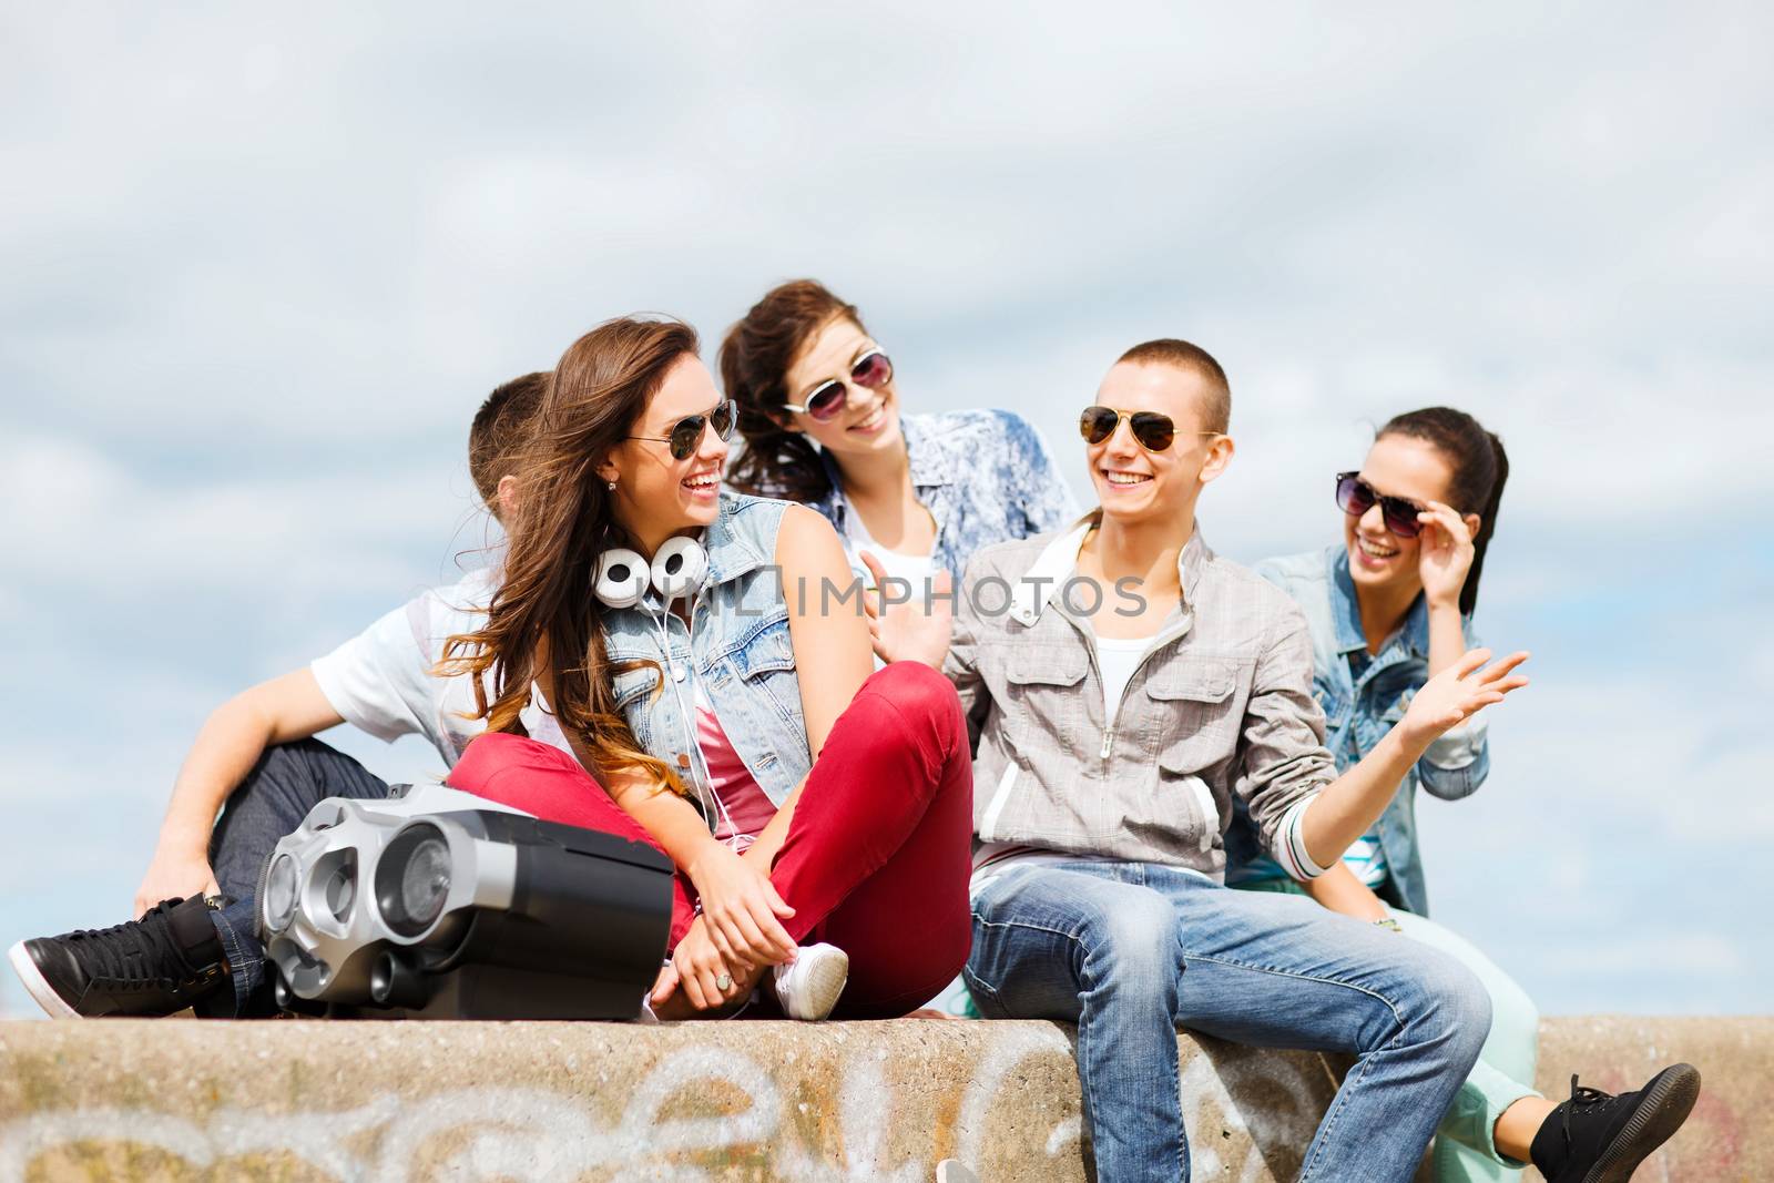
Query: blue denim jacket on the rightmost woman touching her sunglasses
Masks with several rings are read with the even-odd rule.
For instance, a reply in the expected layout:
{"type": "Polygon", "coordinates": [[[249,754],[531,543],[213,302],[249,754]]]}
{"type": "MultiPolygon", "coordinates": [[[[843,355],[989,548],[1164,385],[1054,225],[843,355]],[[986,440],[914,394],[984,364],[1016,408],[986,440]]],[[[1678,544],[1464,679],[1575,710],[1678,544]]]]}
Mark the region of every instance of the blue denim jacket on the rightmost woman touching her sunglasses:
{"type": "MultiPolygon", "coordinates": [[[[1403,626],[1355,676],[1348,656],[1366,653],[1368,639],[1348,575],[1348,550],[1338,543],[1304,555],[1268,559],[1256,571],[1293,596],[1306,612],[1313,633],[1313,695],[1325,711],[1325,747],[1336,756],[1338,768],[1346,772],[1405,717],[1412,695],[1428,681],[1428,601],[1417,596],[1403,626]]],[[[1471,619],[1465,621],[1465,644],[1478,644],[1471,619]]],[[[1480,715],[1432,743],[1380,816],[1380,851],[1387,867],[1380,894],[1417,915],[1428,915],[1428,887],[1417,850],[1417,784],[1448,802],[1476,793],[1490,772],[1485,733],[1485,717],[1480,715]]]]}

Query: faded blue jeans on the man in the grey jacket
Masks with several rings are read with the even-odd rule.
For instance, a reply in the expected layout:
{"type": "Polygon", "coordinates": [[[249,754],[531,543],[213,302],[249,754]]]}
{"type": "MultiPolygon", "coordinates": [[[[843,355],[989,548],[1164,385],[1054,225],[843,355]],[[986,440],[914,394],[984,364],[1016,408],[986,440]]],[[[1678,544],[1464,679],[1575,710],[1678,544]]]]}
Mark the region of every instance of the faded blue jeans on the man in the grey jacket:
{"type": "Polygon", "coordinates": [[[1176,1025],[1352,1052],[1300,1179],[1409,1183],[1478,1061],[1471,970],[1293,896],[1139,862],[1009,867],[977,883],[965,979],[986,1018],[1079,1025],[1096,1178],[1187,1179],[1176,1025]]]}

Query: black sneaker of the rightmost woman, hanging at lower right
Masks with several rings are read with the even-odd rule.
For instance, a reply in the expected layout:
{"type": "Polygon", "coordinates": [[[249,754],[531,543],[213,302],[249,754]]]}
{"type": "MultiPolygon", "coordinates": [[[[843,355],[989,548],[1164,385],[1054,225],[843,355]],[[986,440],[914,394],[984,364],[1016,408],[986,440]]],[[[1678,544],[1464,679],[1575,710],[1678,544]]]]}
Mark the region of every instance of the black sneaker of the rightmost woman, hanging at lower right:
{"type": "Polygon", "coordinates": [[[1669,1140],[1699,1098],[1699,1071],[1675,1064],[1637,1093],[1611,1096],[1579,1089],[1540,1124],[1529,1148],[1547,1183],[1627,1183],[1644,1158],[1669,1140]]]}

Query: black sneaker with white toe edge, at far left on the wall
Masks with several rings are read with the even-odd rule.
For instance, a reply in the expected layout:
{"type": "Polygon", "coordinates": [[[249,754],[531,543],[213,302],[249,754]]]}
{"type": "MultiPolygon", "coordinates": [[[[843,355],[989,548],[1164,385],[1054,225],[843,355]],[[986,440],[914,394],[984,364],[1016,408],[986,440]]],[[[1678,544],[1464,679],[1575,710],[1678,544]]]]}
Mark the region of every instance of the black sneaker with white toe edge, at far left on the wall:
{"type": "Polygon", "coordinates": [[[21,940],[7,961],[50,1018],[172,1015],[227,983],[202,896],[167,899],[128,924],[21,940]]]}

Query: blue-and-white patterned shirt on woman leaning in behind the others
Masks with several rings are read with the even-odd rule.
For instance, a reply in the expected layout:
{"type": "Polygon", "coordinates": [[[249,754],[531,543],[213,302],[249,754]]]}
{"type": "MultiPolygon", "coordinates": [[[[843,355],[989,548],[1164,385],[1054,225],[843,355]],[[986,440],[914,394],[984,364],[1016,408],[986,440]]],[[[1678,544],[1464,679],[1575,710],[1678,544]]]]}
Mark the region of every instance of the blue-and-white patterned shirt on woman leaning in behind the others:
{"type": "MultiPolygon", "coordinates": [[[[967,560],[992,543],[1059,530],[1079,516],[1079,504],[1059,475],[1041,433],[1013,411],[970,410],[901,415],[912,488],[937,521],[931,559],[956,582],[967,560]]],[[[832,491],[807,505],[837,527],[850,548],[843,477],[827,452],[832,491]]],[[[857,557],[852,566],[862,571],[857,557]]]]}

